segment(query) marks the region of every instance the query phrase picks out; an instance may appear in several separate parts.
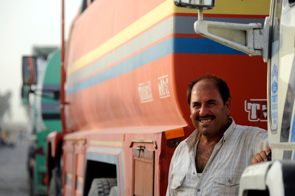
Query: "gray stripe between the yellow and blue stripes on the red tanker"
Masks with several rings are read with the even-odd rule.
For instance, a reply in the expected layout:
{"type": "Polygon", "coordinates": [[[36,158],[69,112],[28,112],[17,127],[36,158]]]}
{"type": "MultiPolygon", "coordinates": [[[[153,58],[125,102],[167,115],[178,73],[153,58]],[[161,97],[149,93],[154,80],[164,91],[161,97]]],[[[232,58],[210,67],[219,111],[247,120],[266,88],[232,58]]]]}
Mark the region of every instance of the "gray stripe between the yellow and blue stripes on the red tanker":
{"type": "MultiPolygon", "coordinates": [[[[195,34],[194,22],[197,17],[170,17],[167,20],[161,22],[157,26],[153,27],[144,34],[136,37],[127,44],[119,47],[117,50],[110,52],[108,55],[96,60],[88,66],[82,68],[78,72],[73,73],[67,77],[66,83],[73,83],[76,80],[80,80],[94,72],[97,72],[113,63],[133,54],[134,52],[147,47],[148,45],[156,42],[157,40],[170,35],[171,33],[181,34],[195,34]]],[[[264,23],[264,19],[240,19],[240,18],[212,18],[205,17],[204,20],[218,21],[218,22],[234,22],[234,23],[264,23]]]]}

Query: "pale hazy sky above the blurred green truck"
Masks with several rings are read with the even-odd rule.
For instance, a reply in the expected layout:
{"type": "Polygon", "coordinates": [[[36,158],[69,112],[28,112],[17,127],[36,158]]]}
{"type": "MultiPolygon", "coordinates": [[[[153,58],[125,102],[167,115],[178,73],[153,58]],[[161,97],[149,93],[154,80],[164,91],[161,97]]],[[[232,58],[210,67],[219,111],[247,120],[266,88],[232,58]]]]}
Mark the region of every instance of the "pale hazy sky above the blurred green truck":
{"type": "MultiPolygon", "coordinates": [[[[65,0],[65,38],[82,0],[65,0]]],[[[0,94],[12,92],[12,118],[4,122],[28,121],[21,100],[23,55],[33,46],[60,46],[61,0],[0,0],[0,94]]]]}

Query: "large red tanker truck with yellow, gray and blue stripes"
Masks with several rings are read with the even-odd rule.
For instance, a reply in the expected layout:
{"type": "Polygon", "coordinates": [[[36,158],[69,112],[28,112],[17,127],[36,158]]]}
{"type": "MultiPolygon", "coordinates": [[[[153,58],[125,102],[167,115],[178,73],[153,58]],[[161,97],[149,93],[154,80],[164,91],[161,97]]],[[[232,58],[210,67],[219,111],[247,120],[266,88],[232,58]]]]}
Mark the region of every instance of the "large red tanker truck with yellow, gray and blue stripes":
{"type": "MultiPolygon", "coordinates": [[[[257,2],[208,17],[263,22],[268,7],[255,10],[257,2]]],[[[227,81],[236,123],[267,129],[262,58],[195,34],[196,17],[173,0],[83,1],[61,72],[63,132],[48,135],[47,160],[56,164],[47,164],[47,185],[53,179],[55,192],[53,171],[63,166],[63,195],[165,195],[173,152],[195,130],[186,88],[205,73],[227,81]]]]}

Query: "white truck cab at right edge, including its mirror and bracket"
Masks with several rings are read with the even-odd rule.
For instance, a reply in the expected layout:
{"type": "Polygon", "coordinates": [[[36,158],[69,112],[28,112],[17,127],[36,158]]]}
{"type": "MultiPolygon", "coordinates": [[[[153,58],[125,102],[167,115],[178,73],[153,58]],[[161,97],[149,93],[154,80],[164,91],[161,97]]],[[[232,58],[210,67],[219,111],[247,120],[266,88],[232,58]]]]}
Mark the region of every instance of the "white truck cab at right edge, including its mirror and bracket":
{"type": "MultiPolygon", "coordinates": [[[[214,1],[205,1],[207,5],[214,1]]],[[[199,7],[200,2],[180,6],[199,7]]],[[[205,5],[205,7],[207,6],[205,5]]],[[[204,5],[201,5],[204,6],[204,5]]],[[[230,11],[230,10],[228,10],[230,11]]],[[[199,13],[202,11],[200,10],[199,13]]],[[[295,1],[271,1],[264,27],[197,21],[197,33],[268,62],[268,138],[271,160],[245,169],[239,195],[294,195],[295,1]],[[230,34],[226,37],[224,32],[230,34]],[[241,41],[245,39],[245,41],[241,41]]]]}

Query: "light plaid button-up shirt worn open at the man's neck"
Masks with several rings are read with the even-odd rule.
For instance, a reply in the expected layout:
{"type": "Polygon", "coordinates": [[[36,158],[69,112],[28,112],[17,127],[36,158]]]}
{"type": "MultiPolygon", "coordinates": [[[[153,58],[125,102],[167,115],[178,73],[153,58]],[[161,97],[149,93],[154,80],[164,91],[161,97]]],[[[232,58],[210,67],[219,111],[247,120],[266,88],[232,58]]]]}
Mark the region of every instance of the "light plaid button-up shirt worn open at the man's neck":
{"type": "Polygon", "coordinates": [[[236,125],[232,118],[229,122],[230,127],[215,145],[200,178],[195,154],[201,134],[194,131],[177,146],[170,164],[166,196],[238,195],[242,172],[252,164],[254,155],[268,146],[268,133],[258,127],[236,125]]]}

